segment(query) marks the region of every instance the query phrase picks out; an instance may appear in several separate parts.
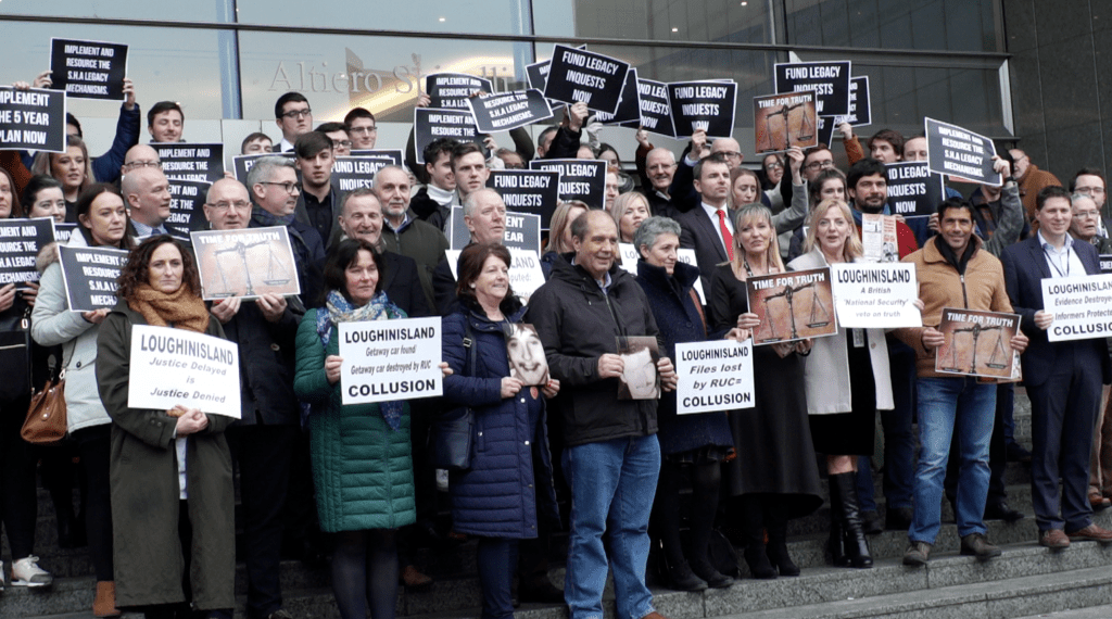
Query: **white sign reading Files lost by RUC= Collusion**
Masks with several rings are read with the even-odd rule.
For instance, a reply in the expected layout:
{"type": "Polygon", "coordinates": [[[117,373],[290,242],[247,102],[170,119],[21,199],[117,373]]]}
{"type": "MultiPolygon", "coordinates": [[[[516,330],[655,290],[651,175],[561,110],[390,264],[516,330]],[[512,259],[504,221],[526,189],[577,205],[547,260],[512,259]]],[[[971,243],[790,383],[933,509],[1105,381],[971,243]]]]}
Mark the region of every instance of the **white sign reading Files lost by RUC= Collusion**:
{"type": "Polygon", "coordinates": [[[753,342],[676,343],[676,413],[753,408],[753,342]]]}

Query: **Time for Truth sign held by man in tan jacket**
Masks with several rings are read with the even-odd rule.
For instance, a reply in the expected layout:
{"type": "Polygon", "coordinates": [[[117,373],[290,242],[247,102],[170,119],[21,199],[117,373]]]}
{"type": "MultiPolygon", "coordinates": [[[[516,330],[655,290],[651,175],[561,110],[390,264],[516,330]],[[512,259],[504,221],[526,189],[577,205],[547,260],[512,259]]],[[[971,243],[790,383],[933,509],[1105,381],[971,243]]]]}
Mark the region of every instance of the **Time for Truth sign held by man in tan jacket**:
{"type": "Polygon", "coordinates": [[[1013,380],[1019,378],[1020,353],[1012,338],[1020,315],[942,308],[939,331],[946,337],[934,357],[937,372],[1013,380]]]}

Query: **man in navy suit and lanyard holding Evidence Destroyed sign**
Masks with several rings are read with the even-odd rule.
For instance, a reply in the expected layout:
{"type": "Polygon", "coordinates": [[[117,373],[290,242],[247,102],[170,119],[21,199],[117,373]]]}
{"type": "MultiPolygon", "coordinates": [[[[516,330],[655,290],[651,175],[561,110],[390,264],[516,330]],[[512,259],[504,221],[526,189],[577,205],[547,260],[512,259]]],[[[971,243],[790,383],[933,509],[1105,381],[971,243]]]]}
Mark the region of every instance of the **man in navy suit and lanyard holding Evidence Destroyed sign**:
{"type": "Polygon", "coordinates": [[[1035,199],[1039,232],[1004,250],[1007,296],[1031,338],[1023,353],[1023,383],[1031,398],[1031,493],[1039,543],[1065,548],[1070,540],[1112,542],[1112,531],[1093,525],[1085,496],[1101,382],[1110,382],[1103,337],[1051,342],[1054,315],[1043,309],[1042,280],[1098,274],[1096,250],[1074,242],[1070,194],[1051,186],[1035,199]],[[1062,479],[1059,498],[1058,480],[1062,479]]]}

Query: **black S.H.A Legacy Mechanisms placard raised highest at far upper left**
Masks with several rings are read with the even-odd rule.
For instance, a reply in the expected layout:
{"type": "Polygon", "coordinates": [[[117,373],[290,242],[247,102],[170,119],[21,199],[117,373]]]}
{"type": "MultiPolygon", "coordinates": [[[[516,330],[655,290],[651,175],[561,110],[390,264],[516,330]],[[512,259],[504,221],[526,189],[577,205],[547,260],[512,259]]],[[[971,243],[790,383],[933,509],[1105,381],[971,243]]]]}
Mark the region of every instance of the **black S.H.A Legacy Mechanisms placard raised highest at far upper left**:
{"type": "Polygon", "coordinates": [[[75,99],[122,101],[128,46],[50,39],[50,88],[75,99]]]}

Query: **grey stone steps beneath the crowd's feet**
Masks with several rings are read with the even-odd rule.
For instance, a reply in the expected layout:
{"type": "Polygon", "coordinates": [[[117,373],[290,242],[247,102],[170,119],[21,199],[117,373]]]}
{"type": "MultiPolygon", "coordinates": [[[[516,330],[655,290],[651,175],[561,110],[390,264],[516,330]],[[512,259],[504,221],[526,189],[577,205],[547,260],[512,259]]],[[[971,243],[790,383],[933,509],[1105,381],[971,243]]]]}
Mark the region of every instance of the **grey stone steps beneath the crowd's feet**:
{"type": "MultiPolygon", "coordinates": [[[[1016,437],[1030,447],[1030,406],[1016,392],[1016,437]]],[[[883,506],[877,476],[877,502],[883,506]]],[[[1027,618],[1053,613],[1061,619],[1112,617],[1112,547],[1094,542],[1074,543],[1051,552],[1035,543],[1031,517],[1030,473],[1026,466],[1009,463],[1009,502],[1027,515],[1014,523],[987,521],[989,538],[1002,547],[1003,556],[986,563],[957,555],[959,540],[950,506],[943,505],[943,527],[931,562],[920,569],[901,565],[906,533],[885,531],[870,538],[876,565],[870,570],[832,568],[823,558],[828,511],[824,506],[790,528],[791,552],[803,568],[798,578],[757,581],[743,575],[729,589],[698,593],[654,587],[657,610],[671,619],[715,617],[744,618],[872,618],[898,617],[943,619],[953,617],[1027,618]]],[[[85,549],[62,550],[54,543],[53,509],[40,493],[40,565],[56,575],[50,590],[9,587],[0,593],[0,618],[91,617],[95,579],[85,549]]],[[[1112,528],[1112,510],[1095,516],[1112,528]]],[[[554,543],[554,546],[560,546],[554,543]]],[[[7,560],[7,549],[4,549],[7,560]]],[[[416,565],[436,582],[425,591],[401,590],[398,616],[414,619],[478,617],[479,588],[475,576],[475,542],[416,555],[416,565]]],[[[553,582],[563,586],[563,561],[553,562],[553,582]]],[[[285,561],[281,566],[285,606],[297,618],[338,617],[325,567],[285,561]]],[[[652,581],[651,581],[652,585],[652,581]]],[[[242,616],[246,580],[237,571],[237,617],[242,616]]],[[[613,603],[605,605],[613,619],[613,603]]],[[[525,603],[518,619],[565,619],[562,606],[525,603]]]]}

